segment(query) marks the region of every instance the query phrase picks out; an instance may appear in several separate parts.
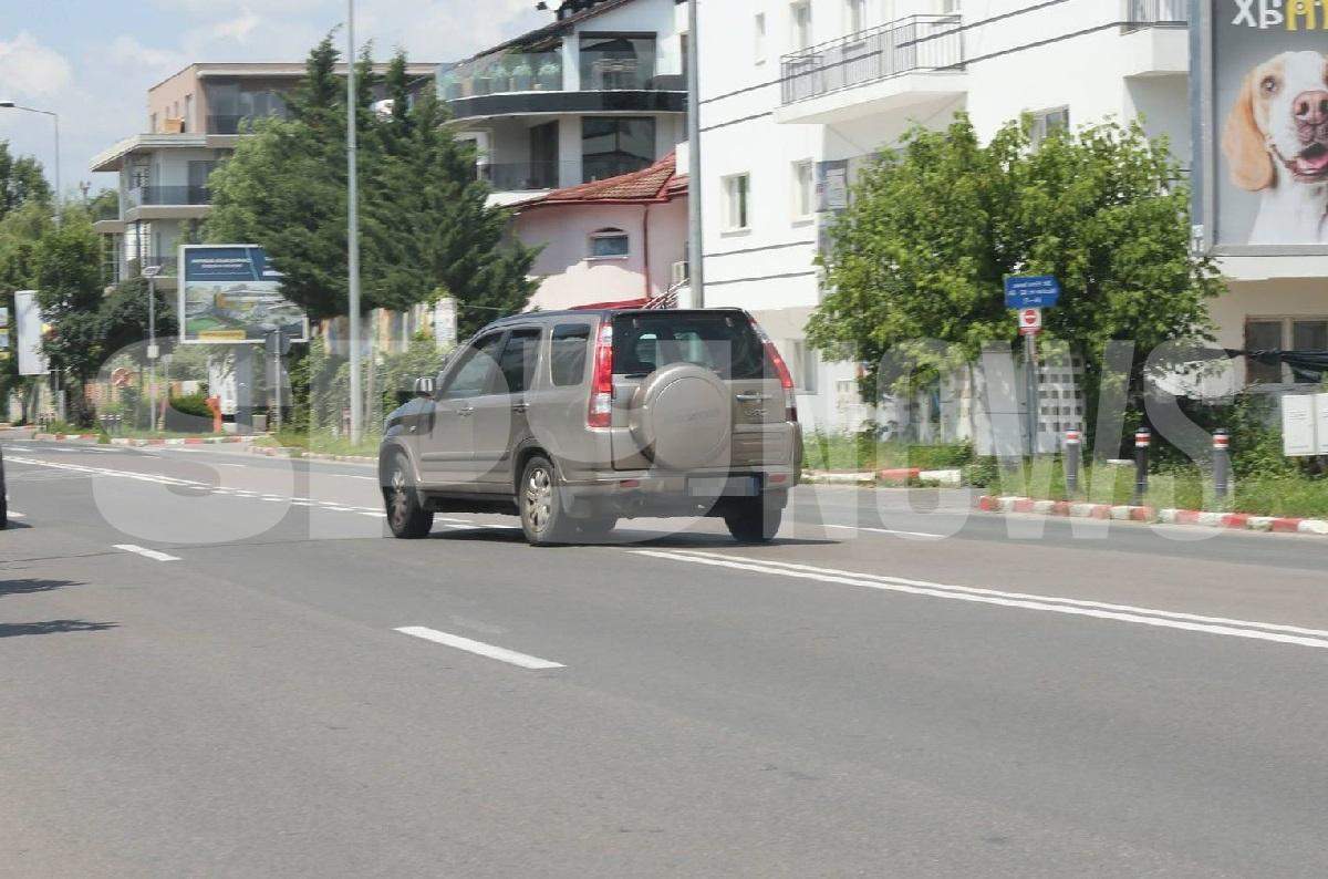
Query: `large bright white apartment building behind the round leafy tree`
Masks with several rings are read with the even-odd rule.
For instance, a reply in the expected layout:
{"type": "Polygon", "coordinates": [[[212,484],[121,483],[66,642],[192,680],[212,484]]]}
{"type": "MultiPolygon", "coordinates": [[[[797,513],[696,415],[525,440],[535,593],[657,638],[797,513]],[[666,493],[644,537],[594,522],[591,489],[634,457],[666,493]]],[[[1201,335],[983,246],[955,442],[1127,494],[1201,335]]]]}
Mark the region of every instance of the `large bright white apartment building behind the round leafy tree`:
{"type": "MultiPolygon", "coordinates": [[[[803,344],[822,292],[814,259],[833,218],[825,208],[908,127],[944,127],[959,110],[984,138],[1021,113],[1041,126],[1142,116],[1190,166],[1187,0],[699,8],[703,183],[693,191],[705,216],[705,304],[757,316],[807,394],[799,410],[829,429],[855,429],[866,410],[857,365],[819,362],[803,344]]],[[[1218,308],[1232,347],[1243,344],[1239,311],[1218,308]]],[[[932,402],[946,438],[971,436],[972,396],[950,388],[932,402]]]]}

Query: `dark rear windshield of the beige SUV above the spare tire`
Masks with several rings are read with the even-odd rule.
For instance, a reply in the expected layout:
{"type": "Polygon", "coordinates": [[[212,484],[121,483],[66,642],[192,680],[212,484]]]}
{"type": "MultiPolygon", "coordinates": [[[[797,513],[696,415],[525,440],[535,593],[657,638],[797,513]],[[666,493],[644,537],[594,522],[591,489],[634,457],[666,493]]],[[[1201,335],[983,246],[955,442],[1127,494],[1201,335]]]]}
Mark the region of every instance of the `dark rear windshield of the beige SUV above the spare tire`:
{"type": "Polygon", "coordinates": [[[696,364],[720,378],[773,374],[745,315],[622,315],[614,319],[614,373],[648,376],[672,364],[696,364]]]}

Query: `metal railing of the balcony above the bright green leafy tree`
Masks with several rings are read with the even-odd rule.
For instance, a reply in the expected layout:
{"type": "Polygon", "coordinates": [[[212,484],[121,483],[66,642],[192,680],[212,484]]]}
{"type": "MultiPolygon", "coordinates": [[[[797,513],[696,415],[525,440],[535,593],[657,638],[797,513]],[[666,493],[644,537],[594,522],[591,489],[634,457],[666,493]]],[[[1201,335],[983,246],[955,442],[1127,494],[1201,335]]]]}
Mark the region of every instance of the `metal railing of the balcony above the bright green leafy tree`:
{"type": "Polygon", "coordinates": [[[964,62],[960,17],[918,15],[784,56],[784,102],[964,62]]]}

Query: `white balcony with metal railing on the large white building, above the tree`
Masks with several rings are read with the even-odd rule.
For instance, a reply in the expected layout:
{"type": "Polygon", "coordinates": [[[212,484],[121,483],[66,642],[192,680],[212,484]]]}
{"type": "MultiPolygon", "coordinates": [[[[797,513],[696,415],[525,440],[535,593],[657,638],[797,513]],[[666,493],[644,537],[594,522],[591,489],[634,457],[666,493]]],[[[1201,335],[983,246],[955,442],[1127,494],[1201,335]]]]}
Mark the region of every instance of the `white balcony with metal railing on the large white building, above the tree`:
{"type": "Polygon", "coordinates": [[[918,15],[784,56],[780,122],[834,123],[967,92],[960,19],[918,15]]]}

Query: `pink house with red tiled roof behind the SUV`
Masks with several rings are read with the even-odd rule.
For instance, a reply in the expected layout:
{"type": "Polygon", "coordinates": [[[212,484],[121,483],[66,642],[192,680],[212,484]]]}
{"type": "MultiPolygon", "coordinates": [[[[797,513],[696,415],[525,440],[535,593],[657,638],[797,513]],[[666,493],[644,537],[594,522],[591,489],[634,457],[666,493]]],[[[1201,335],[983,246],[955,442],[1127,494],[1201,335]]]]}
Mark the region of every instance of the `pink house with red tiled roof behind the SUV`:
{"type": "Polygon", "coordinates": [[[517,236],[543,246],[531,308],[639,305],[685,284],[687,178],[675,157],[513,206],[517,236]]]}

